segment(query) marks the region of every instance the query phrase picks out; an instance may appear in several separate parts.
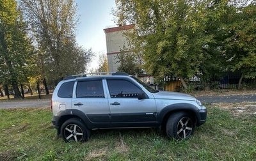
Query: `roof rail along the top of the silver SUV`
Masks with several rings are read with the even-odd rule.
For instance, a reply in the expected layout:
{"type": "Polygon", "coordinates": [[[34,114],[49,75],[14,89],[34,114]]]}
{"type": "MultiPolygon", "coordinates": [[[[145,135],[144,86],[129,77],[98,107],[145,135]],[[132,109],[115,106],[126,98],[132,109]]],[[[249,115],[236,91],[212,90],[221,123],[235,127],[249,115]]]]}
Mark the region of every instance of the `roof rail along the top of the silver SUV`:
{"type": "Polygon", "coordinates": [[[129,74],[127,74],[125,72],[80,73],[80,74],[76,74],[76,75],[68,75],[63,80],[75,79],[75,78],[78,78],[78,77],[88,77],[88,75],[93,76],[93,75],[129,75],[129,74]]]}

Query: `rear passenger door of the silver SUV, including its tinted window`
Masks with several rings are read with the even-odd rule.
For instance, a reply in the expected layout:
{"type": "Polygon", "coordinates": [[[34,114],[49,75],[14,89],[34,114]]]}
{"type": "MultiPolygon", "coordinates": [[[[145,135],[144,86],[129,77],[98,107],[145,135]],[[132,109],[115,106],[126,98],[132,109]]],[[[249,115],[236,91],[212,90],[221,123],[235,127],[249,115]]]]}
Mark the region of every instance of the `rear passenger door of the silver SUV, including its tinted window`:
{"type": "Polygon", "coordinates": [[[110,127],[110,111],[102,79],[81,80],[75,84],[72,108],[83,111],[94,128],[110,127]]]}

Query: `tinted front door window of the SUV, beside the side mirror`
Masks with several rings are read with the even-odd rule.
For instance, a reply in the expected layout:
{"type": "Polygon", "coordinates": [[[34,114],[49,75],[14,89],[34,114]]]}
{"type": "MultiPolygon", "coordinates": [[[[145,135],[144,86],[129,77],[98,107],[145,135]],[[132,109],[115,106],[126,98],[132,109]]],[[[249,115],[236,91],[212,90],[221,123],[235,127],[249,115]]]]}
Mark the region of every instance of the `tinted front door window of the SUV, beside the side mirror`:
{"type": "Polygon", "coordinates": [[[125,80],[108,80],[111,98],[138,98],[141,89],[125,80]]]}

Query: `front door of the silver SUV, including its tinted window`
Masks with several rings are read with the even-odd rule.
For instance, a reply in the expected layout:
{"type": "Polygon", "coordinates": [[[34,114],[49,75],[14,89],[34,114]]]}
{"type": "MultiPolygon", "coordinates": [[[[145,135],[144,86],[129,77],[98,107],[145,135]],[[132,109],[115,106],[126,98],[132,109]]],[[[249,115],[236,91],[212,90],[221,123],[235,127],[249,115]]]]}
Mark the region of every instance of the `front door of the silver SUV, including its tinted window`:
{"type": "Polygon", "coordinates": [[[107,79],[111,127],[154,127],[156,103],[154,99],[138,100],[143,92],[127,79],[107,79]]]}

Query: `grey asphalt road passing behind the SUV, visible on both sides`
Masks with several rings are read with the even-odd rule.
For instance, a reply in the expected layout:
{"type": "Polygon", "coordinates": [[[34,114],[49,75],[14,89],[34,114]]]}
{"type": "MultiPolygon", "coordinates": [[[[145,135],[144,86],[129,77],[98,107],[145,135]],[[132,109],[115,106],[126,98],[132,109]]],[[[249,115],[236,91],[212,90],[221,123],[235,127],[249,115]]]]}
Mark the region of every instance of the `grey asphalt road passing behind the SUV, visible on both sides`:
{"type": "MultiPolygon", "coordinates": [[[[256,95],[228,95],[228,96],[198,96],[203,103],[234,103],[234,102],[256,102],[256,95]]],[[[50,99],[22,100],[0,102],[0,109],[26,108],[26,107],[51,107],[50,99]]]]}

